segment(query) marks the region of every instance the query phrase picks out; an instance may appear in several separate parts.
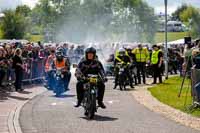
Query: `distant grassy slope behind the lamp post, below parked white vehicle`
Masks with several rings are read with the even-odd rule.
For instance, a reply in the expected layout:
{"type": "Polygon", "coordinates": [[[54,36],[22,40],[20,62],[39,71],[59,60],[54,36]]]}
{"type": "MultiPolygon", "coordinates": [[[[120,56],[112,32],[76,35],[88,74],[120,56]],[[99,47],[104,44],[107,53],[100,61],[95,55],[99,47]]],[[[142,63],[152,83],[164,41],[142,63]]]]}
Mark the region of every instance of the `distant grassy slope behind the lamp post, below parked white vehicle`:
{"type": "MultiPolygon", "coordinates": [[[[175,41],[178,39],[182,39],[187,36],[187,32],[168,32],[168,42],[175,41]]],[[[155,36],[155,42],[161,43],[165,41],[165,33],[164,32],[157,32],[155,36]]]]}

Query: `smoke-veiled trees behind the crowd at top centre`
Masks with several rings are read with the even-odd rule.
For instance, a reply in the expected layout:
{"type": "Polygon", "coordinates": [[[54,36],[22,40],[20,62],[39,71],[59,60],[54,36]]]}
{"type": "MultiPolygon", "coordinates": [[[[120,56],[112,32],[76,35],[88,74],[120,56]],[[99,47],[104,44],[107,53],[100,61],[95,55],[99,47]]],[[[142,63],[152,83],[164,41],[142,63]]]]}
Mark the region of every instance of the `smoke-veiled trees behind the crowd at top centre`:
{"type": "Polygon", "coordinates": [[[40,0],[31,16],[44,34],[74,42],[153,42],[156,32],[154,10],[142,0],[40,0]]]}

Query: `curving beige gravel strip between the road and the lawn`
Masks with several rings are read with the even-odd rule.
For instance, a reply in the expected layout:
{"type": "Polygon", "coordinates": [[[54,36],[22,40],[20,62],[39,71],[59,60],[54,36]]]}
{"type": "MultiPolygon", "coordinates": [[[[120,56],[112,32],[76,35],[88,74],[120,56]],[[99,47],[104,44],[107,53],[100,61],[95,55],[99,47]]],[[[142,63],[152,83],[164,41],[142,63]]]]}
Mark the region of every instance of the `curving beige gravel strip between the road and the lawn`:
{"type": "Polygon", "coordinates": [[[138,86],[131,94],[142,105],[150,109],[151,111],[162,114],[163,116],[181,123],[185,126],[200,130],[200,118],[191,116],[180,110],[174,109],[168,105],[165,105],[154,98],[147,90],[151,86],[138,86]]]}

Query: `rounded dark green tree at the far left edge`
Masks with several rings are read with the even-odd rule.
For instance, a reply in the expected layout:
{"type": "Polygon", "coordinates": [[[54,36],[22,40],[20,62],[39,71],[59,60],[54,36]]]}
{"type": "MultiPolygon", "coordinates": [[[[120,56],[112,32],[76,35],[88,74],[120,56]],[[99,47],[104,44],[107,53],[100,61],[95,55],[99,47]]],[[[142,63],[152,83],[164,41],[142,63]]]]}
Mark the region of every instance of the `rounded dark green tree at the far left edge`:
{"type": "Polygon", "coordinates": [[[12,10],[6,10],[4,14],[1,24],[3,38],[22,39],[26,30],[24,17],[12,10]]]}

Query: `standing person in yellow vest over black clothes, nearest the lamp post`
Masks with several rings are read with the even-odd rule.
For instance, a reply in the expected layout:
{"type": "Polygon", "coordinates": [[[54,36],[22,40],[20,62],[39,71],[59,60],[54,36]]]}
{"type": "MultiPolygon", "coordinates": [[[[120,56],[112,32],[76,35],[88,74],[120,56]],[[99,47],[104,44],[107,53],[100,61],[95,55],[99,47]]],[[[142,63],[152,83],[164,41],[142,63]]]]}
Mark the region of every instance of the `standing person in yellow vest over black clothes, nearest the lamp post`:
{"type": "Polygon", "coordinates": [[[162,63],[163,63],[163,53],[158,48],[157,45],[153,45],[153,52],[151,55],[151,65],[153,71],[153,83],[157,83],[157,77],[159,78],[159,83],[162,83],[162,63]]]}

